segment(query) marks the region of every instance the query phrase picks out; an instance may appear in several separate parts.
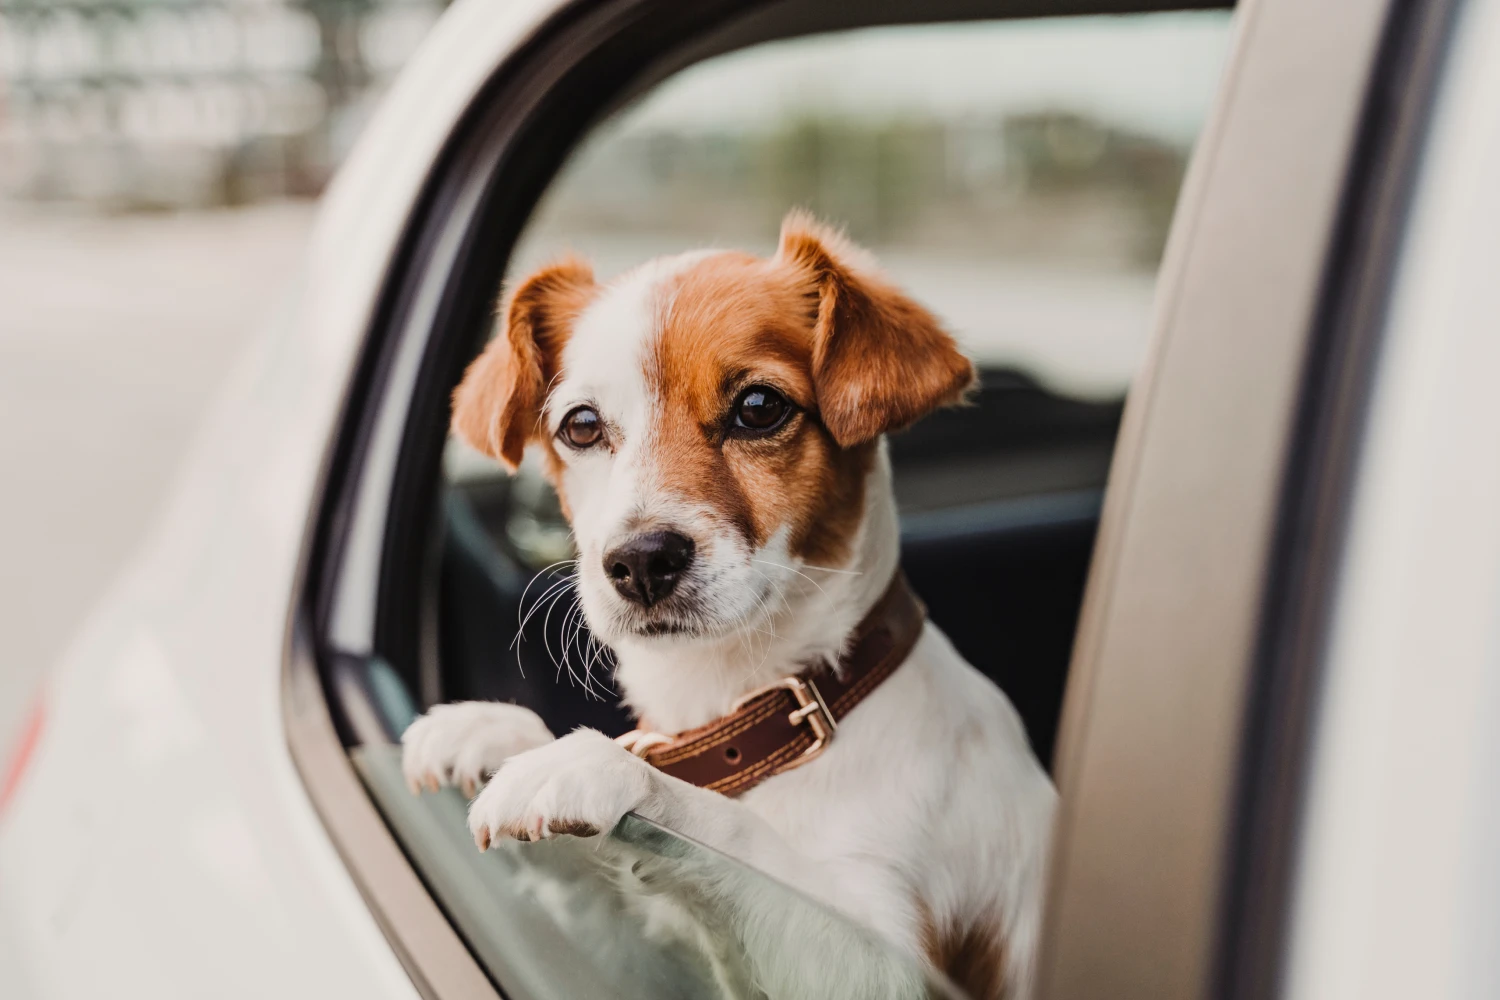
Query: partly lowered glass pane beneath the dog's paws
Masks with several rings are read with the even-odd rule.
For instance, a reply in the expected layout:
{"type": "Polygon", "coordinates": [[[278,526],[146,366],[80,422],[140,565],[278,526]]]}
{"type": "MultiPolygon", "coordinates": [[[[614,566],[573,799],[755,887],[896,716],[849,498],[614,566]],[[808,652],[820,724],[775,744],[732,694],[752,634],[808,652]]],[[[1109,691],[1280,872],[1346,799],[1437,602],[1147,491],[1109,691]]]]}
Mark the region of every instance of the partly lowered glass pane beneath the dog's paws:
{"type": "Polygon", "coordinates": [[[627,816],[606,844],[507,841],[480,853],[458,790],[412,796],[396,747],[360,747],[352,757],[396,838],[507,996],[753,997],[756,984],[772,978],[826,982],[828,967],[858,969],[860,976],[842,978],[831,993],[819,993],[820,1000],[962,996],[912,957],[790,886],[639,816],[627,816]],[[696,885],[752,883],[744,891],[770,897],[782,918],[778,928],[765,930],[814,936],[824,943],[820,969],[753,967],[724,906],[729,894],[660,882],[668,871],[684,870],[696,885]],[[880,991],[872,993],[870,984],[880,984],[880,991]]]}

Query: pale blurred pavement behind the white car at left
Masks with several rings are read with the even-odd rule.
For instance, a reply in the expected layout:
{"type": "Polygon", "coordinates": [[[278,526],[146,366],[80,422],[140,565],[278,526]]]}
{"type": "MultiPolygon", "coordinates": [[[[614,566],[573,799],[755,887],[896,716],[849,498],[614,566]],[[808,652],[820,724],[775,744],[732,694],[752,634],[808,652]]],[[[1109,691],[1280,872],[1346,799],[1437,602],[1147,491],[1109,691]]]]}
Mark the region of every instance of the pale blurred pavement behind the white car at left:
{"type": "Polygon", "coordinates": [[[0,757],[291,276],[310,208],[0,205],[0,757]]]}

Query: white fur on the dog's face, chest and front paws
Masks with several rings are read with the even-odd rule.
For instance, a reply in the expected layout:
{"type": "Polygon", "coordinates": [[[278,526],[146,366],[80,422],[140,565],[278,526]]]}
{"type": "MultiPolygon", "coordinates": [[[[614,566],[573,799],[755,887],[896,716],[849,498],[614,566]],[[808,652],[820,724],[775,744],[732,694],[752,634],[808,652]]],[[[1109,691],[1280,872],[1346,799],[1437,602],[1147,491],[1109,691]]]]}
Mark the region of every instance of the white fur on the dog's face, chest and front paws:
{"type": "MultiPolygon", "coordinates": [[[[638,268],[596,300],[573,331],[544,415],[555,432],[588,403],[612,435],[608,450],[562,456],[579,585],[590,625],[616,654],[627,702],[666,733],[712,721],[746,691],[837,657],[898,559],[884,445],[840,567],[801,564],[784,531],[750,552],[716,511],[660,493],[646,354],[670,309],[662,282],[694,259],[638,268]],[[698,541],[696,585],[714,606],[704,634],[645,637],[615,627],[621,598],[602,553],[644,519],[698,541]]],[[[404,741],[412,781],[462,783],[498,768],[470,811],[482,841],[520,831],[544,838],[555,822],[609,831],[636,811],[796,886],[914,957],[922,955],[924,921],[994,928],[1006,996],[1029,996],[1054,792],[1011,703],[932,624],[822,757],[738,799],[666,777],[591,730],[534,745],[544,727],[518,714],[525,711],[438,706],[404,741]]],[[[848,967],[818,961],[825,945],[780,924],[784,909],[759,906],[754,885],[724,891],[768,996],[878,996],[848,967]]],[[[885,996],[916,990],[896,972],[886,979],[885,996]]]]}

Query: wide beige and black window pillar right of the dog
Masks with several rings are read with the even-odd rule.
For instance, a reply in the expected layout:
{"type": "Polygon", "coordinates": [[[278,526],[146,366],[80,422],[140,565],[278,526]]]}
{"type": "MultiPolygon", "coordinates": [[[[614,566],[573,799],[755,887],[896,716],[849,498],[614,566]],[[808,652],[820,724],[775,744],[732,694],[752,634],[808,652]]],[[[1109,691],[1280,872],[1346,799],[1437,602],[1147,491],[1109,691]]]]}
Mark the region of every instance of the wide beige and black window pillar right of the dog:
{"type": "Polygon", "coordinates": [[[1354,457],[1455,6],[1242,10],[1078,625],[1048,1000],[1280,996],[1354,457]]]}

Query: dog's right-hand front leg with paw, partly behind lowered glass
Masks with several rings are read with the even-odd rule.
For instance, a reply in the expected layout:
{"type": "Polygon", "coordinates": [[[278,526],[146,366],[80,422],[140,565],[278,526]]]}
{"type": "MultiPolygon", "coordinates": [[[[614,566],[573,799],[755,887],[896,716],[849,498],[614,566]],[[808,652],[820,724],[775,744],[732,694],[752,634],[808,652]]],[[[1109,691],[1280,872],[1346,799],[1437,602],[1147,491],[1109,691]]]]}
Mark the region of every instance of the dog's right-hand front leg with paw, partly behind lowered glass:
{"type": "MultiPolygon", "coordinates": [[[[771,1000],[924,996],[915,957],[898,957],[820,906],[789,906],[786,886],[824,901],[846,895],[822,865],[742,804],[668,777],[598,732],[580,729],[507,760],[470,807],[470,831],[480,849],[501,838],[596,837],[630,811],[764,873],[690,850],[652,855],[634,868],[711,930],[738,940],[771,1000]]],[[[888,915],[855,916],[867,925],[896,924],[882,919],[888,915]]]]}

